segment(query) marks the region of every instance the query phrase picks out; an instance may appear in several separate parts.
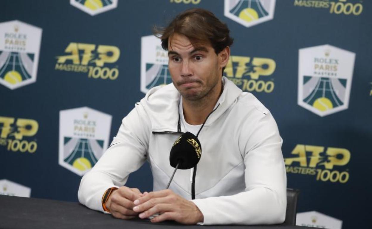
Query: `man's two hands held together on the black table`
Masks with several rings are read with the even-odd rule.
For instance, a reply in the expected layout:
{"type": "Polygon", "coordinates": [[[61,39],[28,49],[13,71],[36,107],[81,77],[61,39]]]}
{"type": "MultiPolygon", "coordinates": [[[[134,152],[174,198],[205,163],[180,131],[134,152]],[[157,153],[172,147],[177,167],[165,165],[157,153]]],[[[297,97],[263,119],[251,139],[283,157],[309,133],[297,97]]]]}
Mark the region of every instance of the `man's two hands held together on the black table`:
{"type": "Polygon", "coordinates": [[[131,219],[135,216],[145,219],[160,213],[151,219],[151,222],[174,220],[183,224],[195,224],[204,220],[203,214],[192,201],[169,189],[141,193],[138,189],[120,187],[110,195],[106,207],[112,216],[121,219],[131,219]]]}

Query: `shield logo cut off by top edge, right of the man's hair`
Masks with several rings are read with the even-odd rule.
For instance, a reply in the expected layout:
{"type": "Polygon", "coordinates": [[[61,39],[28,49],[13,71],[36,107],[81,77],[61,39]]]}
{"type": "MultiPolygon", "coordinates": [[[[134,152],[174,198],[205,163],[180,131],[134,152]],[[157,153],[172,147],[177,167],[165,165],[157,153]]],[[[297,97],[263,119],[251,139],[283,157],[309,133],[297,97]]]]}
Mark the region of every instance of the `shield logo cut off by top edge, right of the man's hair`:
{"type": "Polygon", "coordinates": [[[225,0],[226,17],[251,27],[274,18],[275,0],[225,0]]]}

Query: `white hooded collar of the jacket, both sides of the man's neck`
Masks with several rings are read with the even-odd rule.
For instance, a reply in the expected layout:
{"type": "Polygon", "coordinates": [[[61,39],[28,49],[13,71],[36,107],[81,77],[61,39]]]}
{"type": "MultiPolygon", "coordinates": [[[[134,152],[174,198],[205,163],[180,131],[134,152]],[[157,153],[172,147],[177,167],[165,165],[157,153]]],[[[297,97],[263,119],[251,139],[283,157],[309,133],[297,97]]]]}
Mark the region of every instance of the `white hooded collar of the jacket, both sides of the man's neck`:
{"type": "MultiPolygon", "coordinates": [[[[238,96],[242,93],[241,89],[225,76],[223,76],[222,80],[224,82],[224,91],[218,100],[219,107],[209,116],[205,127],[212,125],[214,121],[234,104],[238,96]]],[[[146,96],[141,99],[141,104],[144,105],[144,109],[150,118],[151,130],[153,132],[177,132],[180,96],[174,85],[168,84],[166,86],[151,88],[146,96]]]]}

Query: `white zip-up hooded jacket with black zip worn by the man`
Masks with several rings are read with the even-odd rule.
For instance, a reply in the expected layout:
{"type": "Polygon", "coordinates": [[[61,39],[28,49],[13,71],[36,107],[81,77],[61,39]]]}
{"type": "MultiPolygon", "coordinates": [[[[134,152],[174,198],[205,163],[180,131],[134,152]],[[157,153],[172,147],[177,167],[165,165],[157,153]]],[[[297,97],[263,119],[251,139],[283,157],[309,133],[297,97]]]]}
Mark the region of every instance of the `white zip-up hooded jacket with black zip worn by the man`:
{"type": "MultiPolygon", "coordinates": [[[[223,78],[217,109],[198,139],[195,200],[204,225],[282,223],[286,172],[282,138],[270,112],[250,93],[223,78]]],[[[165,189],[174,168],[169,153],[179,132],[180,94],[173,84],[152,88],[122,120],[118,134],[96,165],[81,179],[78,199],[104,212],[102,196],[126,183],[148,160],[154,191],[165,189]]],[[[169,187],[191,199],[190,170],[177,170],[169,187]]]]}

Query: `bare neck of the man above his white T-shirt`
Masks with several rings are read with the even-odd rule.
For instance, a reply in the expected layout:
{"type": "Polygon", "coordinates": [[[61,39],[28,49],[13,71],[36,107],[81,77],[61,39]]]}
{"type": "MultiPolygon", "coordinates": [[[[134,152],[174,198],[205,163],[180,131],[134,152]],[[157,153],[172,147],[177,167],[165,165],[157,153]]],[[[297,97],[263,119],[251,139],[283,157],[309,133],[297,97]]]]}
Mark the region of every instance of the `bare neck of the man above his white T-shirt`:
{"type": "Polygon", "coordinates": [[[213,111],[223,89],[221,82],[219,86],[216,85],[216,88],[212,89],[213,91],[211,91],[211,93],[197,101],[187,100],[182,97],[182,108],[185,121],[190,125],[203,124],[206,117],[213,111]]]}

